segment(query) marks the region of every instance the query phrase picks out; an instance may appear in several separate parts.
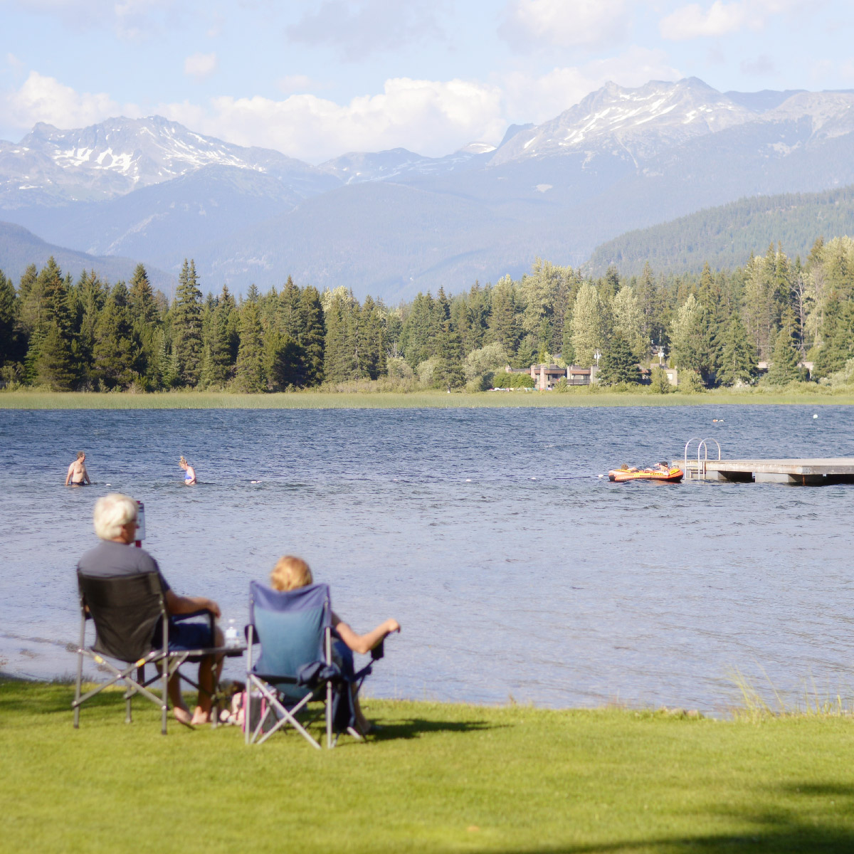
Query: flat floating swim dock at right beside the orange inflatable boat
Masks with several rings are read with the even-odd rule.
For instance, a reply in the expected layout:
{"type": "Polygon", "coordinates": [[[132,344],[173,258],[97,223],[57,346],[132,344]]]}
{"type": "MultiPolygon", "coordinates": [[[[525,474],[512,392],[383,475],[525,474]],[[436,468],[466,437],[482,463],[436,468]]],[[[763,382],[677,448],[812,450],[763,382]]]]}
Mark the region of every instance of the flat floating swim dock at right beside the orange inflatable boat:
{"type": "Polygon", "coordinates": [[[825,486],[854,483],[854,458],[837,459],[688,459],[687,480],[740,483],[792,483],[825,486]]]}

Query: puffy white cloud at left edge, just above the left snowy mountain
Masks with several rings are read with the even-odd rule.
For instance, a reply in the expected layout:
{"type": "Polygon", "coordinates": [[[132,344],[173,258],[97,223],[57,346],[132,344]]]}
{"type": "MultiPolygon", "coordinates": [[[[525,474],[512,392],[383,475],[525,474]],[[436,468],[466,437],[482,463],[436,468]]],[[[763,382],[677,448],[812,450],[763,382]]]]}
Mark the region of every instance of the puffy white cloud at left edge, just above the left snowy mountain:
{"type": "Polygon", "coordinates": [[[17,91],[0,94],[0,112],[9,126],[29,129],[44,121],[57,127],[85,127],[110,116],[133,114],[135,108],[122,109],[103,92],[76,92],[52,77],[36,71],[17,91]]]}

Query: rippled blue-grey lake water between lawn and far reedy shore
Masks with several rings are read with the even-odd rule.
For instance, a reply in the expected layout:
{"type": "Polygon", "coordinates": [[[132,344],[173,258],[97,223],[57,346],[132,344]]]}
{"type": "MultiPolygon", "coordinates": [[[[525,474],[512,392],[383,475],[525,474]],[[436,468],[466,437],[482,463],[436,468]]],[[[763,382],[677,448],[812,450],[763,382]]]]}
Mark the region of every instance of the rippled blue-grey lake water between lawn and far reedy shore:
{"type": "Polygon", "coordinates": [[[96,542],[95,499],[119,490],[145,502],[145,547],[173,588],[212,595],[226,619],[243,623],[249,580],[284,553],[330,582],[355,629],[396,617],[378,696],[725,714],[740,670],[768,694],[850,700],[854,486],[598,476],[681,457],[690,436],[725,457],[854,456],[852,416],[0,410],[0,670],[73,671],[74,565],[96,542]],[[80,448],[96,485],[63,488],[80,448]]]}

